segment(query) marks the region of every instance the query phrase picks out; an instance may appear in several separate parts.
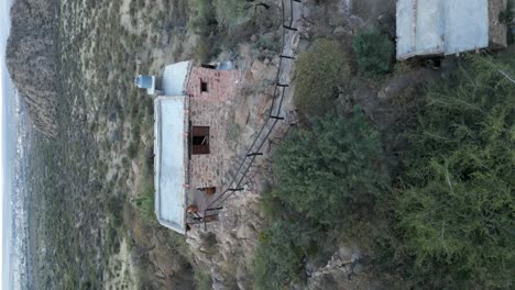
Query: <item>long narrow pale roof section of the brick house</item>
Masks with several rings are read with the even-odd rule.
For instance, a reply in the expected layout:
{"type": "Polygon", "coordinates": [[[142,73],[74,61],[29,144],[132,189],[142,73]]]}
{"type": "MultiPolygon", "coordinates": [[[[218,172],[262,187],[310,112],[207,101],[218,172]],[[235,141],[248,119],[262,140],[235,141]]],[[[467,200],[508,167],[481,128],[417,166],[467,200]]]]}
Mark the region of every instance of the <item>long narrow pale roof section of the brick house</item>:
{"type": "Polygon", "coordinates": [[[186,232],[188,183],[188,97],[158,97],[154,101],[155,213],[161,224],[186,232]]]}

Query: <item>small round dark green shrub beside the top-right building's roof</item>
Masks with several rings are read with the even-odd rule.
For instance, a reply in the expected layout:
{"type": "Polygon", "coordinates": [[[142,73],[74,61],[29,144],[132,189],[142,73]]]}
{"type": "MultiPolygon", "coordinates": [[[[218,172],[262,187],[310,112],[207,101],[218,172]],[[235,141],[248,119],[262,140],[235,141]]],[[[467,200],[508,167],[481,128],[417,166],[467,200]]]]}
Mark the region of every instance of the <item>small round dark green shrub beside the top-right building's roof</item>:
{"type": "Polygon", "coordinates": [[[370,74],[392,70],[395,45],[386,34],[376,30],[362,31],[354,36],[352,49],[360,69],[370,74]]]}

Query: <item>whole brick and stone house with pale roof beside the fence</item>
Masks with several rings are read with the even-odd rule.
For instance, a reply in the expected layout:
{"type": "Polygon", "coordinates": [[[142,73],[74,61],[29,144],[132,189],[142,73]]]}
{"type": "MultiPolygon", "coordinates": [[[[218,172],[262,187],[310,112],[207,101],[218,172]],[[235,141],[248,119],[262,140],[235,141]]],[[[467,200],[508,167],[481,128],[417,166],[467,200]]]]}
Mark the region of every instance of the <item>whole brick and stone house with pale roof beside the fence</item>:
{"type": "MultiPolygon", "coordinates": [[[[240,71],[182,62],[166,66],[154,100],[155,213],[161,224],[184,234],[221,191],[229,167],[229,104],[240,71]]],[[[146,88],[149,89],[149,88],[146,88]]]]}

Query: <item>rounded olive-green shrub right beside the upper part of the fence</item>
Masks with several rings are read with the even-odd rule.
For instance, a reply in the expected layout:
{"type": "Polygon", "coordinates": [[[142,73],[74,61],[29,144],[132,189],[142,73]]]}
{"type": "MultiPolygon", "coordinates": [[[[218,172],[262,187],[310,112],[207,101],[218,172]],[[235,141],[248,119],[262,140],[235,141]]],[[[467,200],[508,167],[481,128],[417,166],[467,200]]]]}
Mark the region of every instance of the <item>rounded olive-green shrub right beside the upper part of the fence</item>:
{"type": "Polygon", "coordinates": [[[318,40],[296,62],[294,102],[305,115],[321,115],[335,104],[338,87],[350,78],[350,66],[341,45],[318,40]]]}

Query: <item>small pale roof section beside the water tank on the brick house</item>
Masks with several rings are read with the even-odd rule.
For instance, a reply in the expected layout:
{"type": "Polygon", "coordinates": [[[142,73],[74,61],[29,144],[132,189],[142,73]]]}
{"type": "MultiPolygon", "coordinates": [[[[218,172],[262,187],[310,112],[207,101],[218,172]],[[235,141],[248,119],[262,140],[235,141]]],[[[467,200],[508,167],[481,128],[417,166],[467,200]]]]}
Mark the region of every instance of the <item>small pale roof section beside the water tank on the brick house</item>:
{"type": "Polygon", "coordinates": [[[166,66],[163,71],[163,94],[183,96],[191,69],[191,62],[180,62],[166,66]]]}

